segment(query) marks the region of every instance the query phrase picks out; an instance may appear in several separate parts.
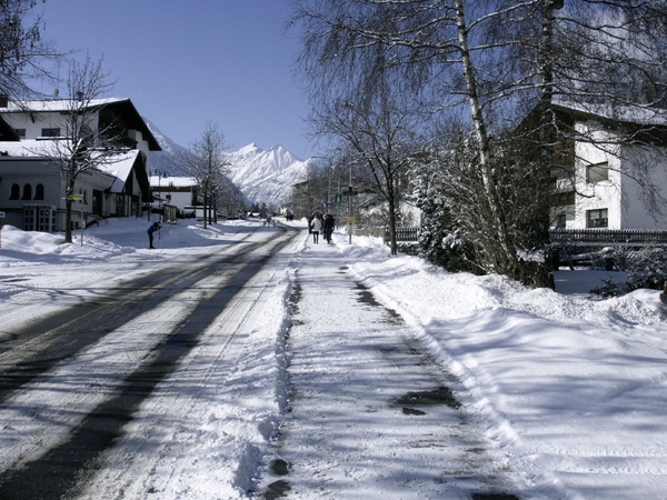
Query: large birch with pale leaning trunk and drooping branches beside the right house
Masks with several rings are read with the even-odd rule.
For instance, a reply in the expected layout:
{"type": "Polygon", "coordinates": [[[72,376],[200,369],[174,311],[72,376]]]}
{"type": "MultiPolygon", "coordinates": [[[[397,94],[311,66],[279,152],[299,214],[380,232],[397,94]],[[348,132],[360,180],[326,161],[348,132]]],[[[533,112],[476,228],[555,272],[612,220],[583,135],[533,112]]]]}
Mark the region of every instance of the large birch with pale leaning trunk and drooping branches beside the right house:
{"type": "MultiPolygon", "coordinates": [[[[478,264],[486,272],[546,286],[546,262],[524,268],[525,256],[548,243],[554,156],[559,141],[571,139],[557,127],[552,102],[599,103],[616,92],[611,100],[618,103],[625,96],[626,103],[659,106],[665,96],[665,13],[661,0],[297,0],[295,23],[301,27],[301,68],[315,82],[316,107],[328,87],[354,81],[350,74],[379,53],[378,46],[416,98],[431,97],[431,110],[446,111],[451,120],[464,117],[467,107],[462,134],[455,137],[464,137],[476,153],[474,178],[484,197],[475,199],[484,201],[484,229],[492,236],[474,241],[482,250],[478,264]],[[595,76],[588,68],[596,69],[595,76]],[[610,68],[613,73],[606,73],[610,68]],[[618,84],[623,74],[637,82],[631,100],[618,84]],[[646,100],[649,94],[653,101],[646,100]],[[529,112],[538,119],[518,148],[508,131],[529,112]],[[521,149],[526,159],[512,162],[521,149]],[[530,178],[532,184],[526,186],[538,189],[508,203],[502,182],[515,177],[530,178]],[[540,208],[534,210],[536,206],[540,208]],[[521,211],[538,219],[527,223],[532,241],[517,237],[521,211]],[[534,230],[536,223],[541,230],[534,230]]],[[[468,213],[479,210],[467,207],[468,213]]]]}

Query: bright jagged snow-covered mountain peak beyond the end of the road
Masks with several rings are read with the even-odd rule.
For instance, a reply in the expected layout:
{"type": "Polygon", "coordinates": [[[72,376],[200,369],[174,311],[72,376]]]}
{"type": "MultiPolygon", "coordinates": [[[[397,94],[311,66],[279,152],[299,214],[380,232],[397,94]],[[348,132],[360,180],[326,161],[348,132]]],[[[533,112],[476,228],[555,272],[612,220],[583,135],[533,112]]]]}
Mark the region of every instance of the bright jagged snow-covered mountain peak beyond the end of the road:
{"type": "Polygon", "coordinates": [[[251,143],[229,154],[231,181],[248,199],[278,207],[306,178],[312,160],[300,160],[282,146],[262,150],[251,143]]]}

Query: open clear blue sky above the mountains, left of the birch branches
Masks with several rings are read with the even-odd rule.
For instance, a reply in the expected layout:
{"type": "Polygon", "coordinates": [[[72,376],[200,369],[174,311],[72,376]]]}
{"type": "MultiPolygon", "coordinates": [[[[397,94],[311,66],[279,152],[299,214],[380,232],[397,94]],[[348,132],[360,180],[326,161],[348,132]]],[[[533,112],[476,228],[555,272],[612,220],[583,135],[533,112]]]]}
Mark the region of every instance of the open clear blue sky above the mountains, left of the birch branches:
{"type": "MultiPolygon", "coordinates": [[[[232,146],[281,144],[316,154],[306,137],[297,32],[281,0],[47,0],[43,36],[103,68],[139,112],[181,146],[209,120],[232,146]]],[[[64,76],[67,68],[60,69],[64,76]]],[[[64,89],[61,89],[64,90],[64,89]]]]}

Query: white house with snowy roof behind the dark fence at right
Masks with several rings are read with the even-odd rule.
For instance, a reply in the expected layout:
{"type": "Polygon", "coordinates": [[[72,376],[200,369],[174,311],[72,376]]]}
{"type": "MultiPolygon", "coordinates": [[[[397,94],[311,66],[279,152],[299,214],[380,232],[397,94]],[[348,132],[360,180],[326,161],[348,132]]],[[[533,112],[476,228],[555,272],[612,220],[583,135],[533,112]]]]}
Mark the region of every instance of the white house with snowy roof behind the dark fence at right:
{"type": "Polygon", "coordinates": [[[566,229],[667,229],[667,207],[650,203],[647,187],[667,199],[665,110],[596,112],[556,106],[570,128],[574,163],[557,179],[554,226],[566,229]],[[627,140],[631,137],[633,140],[627,140]]]}

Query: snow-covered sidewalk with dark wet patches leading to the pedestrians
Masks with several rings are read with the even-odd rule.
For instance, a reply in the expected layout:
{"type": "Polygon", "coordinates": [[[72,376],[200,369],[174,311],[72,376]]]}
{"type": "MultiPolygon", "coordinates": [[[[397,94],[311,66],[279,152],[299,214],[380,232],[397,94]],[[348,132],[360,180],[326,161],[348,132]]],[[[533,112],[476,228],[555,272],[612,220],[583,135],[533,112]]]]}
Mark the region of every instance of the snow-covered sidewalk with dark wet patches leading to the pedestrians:
{"type": "Polygon", "coordinates": [[[461,390],[458,382],[347,266],[335,244],[313,244],[311,237],[297,258],[291,412],[279,458],[262,479],[263,498],[510,493],[499,478],[505,464],[492,458],[450,392],[461,390]]]}

